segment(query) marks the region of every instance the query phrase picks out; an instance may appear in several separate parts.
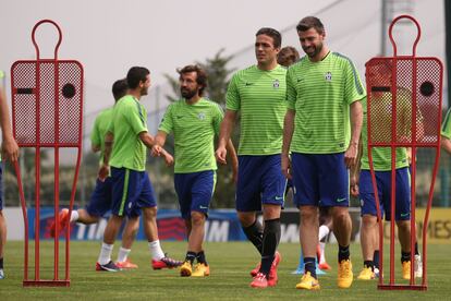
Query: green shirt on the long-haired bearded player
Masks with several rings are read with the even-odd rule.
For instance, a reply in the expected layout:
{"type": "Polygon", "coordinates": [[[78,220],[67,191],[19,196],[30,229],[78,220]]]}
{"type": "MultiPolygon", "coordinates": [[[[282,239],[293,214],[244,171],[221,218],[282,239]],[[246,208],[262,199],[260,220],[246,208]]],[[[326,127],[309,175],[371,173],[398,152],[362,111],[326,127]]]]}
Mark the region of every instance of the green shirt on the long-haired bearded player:
{"type": "Polygon", "coordinates": [[[222,118],[219,105],[205,98],[194,105],[182,98],[168,107],[158,130],[174,135],[175,173],[217,169],[215,134],[222,118]]]}

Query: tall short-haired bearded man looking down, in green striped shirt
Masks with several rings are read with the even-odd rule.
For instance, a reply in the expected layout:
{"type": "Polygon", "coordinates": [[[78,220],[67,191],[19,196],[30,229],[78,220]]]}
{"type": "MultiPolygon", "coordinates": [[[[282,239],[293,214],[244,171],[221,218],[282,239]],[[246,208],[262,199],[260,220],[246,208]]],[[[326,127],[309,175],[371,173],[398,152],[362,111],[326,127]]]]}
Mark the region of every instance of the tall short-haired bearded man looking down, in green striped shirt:
{"type": "Polygon", "coordinates": [[[329,51],[319,19],[304,17],[296,29],[307,56],[287,73],[288,110],[282,148],[282,171],[293,179],[294,202],[301,218],[305,274],[296,288],[319,289],[315,263],[318,207],[330,207],[339,243],[338,286],[349,288],[353,274],[346,168],[355,164],[357,156],[362,129],[359,100],[365,97],[365,89],[351,60],[329,51]]]}

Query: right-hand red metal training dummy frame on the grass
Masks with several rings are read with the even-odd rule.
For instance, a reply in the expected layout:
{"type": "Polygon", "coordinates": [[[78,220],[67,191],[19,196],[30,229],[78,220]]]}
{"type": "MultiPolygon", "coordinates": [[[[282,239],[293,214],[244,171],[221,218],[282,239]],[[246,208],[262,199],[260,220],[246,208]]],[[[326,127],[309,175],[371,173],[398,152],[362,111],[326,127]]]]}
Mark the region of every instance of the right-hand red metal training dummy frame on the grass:
{"type": "Polygon", "coordinates": [[[370,111],[371,111],[371,91],[370,91],[370,84],[368,83],[367,79],[367,118],[368,118],[368,160],[369,160],[369,167],[370,167],[370,174],[371,174],[371,181],[373,181],[373,189],[375,192],[377,192],[377,182],[376,182],[376,174],[374,170],[374,164],[373,164],[373,155],[371,149],[374,147],[380,147],[386,146],[391,148],[391,221],[390,221],[390,278],[389,282],[383,282],[383,221],[381,219],[381,212],[379,206],[379,195],[378,193],[375,193],[376,198],[376,207],[377,207],[377,215],[379,220],[379,250],[380,250],[380,268],[379,268],[379,282],[378,288],[385,289],[385,290],[427,290],[427,225],[429,221],[429,212],[432,204],[432,195],[434,195],[434,185],[436,181],[436,176],[438,171],[438,164],[440,158],[440,121],[441,121],[441,103],[442,103],[442,81],[443,81],[443,65],[440,60],[437,58],[425,58],[425,57],[416,57],[416,46],[418,44],[419,37],[420,37],[420,27],[418,22],[410,16],[410,15],[400,15],[395,17],[389,28],[389,37],[390,41],[393,46],[393,57],[388,58],[374,58],[369,60],[366,63],[366,68],[368,68],[374,64],[376,61],[381,60],[389,60],[391,61],[391,64],[394,65],[392,68],[392,76],[391,76],[391,94],[392,94],[392,112],[395,116],[397,113],[397,86],[398,86],[398,70],[397,65],[399,61],[411,61],[412,62],[412,140],[410,142],[399,142],[397,139],[397,119],[392,119],[391,123],[391,141],[390,142],[373,142],[371,137],[371,121],[370,121],[370,111]],[[392,36],[392,29],[393,26],[398,21],[401,19],[407,19],[412,21],[416,27],[417,27],[417,37],[414,41],[414,45],[412,47],[412,56],[398,56],[397,52],[397,44],[392,36]],[[435,61],[439,65],[439,110],[437,116],[437,128],[435,129],[435,136],[436,139],[434,142],[418,142],[417,141],[417,64],[419,61],[435,61]],[[411,279],[409,281],[409,285],[402,285],[402,284],[395,284],[394,279],[394,225],[395,225],[395,218],[394,218],[394,210],[395,210],[395,150],[398,147],[411,147],[412,148],[412,174],[411,174],[411,279]],[[424,218],[424,227],[423,227],[423,277],[420,284],[415,284],[415,277],[414,277],[414,250],[415,250],[415,241],[416,241],[416,227],[415,227],[415,207],[416,207],[416,195],[415,195],[415,177],[416,177],[416,148],[417,147],[430,147],[436,149],[436,158],[432,169],[432,179],[430,183],[429,189],[429,195],[428,195],[428,202],[426,207],[426,214],[424,218]]]}

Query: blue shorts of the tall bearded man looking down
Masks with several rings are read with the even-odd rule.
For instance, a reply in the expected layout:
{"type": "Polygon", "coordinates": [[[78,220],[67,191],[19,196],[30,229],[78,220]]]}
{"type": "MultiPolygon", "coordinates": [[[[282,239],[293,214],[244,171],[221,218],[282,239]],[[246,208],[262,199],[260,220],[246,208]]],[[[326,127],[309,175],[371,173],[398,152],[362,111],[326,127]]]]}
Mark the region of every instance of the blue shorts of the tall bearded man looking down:
{"type": "Polygon", "coordinates": [[[291,154],[294,204],[298,206],[348,207],[349,171],[344,153],[291,154]]]}

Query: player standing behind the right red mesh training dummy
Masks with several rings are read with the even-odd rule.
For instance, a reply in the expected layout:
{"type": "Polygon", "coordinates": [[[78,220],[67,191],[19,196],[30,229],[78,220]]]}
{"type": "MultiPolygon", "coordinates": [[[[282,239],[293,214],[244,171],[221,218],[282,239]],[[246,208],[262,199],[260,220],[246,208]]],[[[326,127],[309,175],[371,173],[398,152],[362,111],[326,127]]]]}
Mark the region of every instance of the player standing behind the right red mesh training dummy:
{"type": "MultiPolygon", "coordinates": [[[[391,85],[391,65],[389,62],[381,63],[371,68],[367,72],[370,82],[379,86],[391,85]]],[[[411,135],[412,124],[412,94],[409,89],[398,87],[397,91],[397,133],[400,135],[398,140],[407,139],[411,135]]],[[[358,165],[351,169],[351,193],[354,196],[359,195],[362,207],[362,227],[361,227],[361,245],[364,258],[364,267],[358,275],[358,279],[369,280],[377,276],[378,266],[374,263],[379,251],[379,231],[376,210],[376,198],[373,190],[371,176],[369,171],[368,159],[368,137],[367,137],[367,117],[366,100],[364,103],[364,119],[361,140],[362,167],[358,165]],[[359,172],[359,174],[358,174],[359,172]],[[357,184],[358,183],[358,184],[357,184]],[[376,254],[375,254],[376,253],[376,254]]],[[[373,129],[376,135],[375,141],[389,141],[391,139],[391,120],[393,112],[391,111],[392,95],[390,92],[371,92],[371,107],[377,110],[371,115],[373,129]]],[[[418,111],[417,119],[422,120],[418,111]]],[[[417,123],[417,136],[424,135],[423,123],[417,123]]],[[[391,148],[374,147],[373,164],[376,173],[378,188],[379,206],[386,220],[391,218],[391,148]]],[[[411,184],[409,171],[409,155],[405,147],[398,147],[395,154],[395,221],[398,227],[398,236],[401,244],[401,264],[402,277],[411,278],[411,184]]],[[[415,277],[422,277],[418,261],[420,262],[418,245],[415,243],[415,277]]]]}

